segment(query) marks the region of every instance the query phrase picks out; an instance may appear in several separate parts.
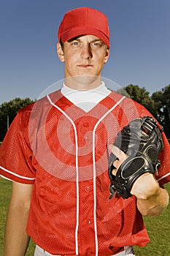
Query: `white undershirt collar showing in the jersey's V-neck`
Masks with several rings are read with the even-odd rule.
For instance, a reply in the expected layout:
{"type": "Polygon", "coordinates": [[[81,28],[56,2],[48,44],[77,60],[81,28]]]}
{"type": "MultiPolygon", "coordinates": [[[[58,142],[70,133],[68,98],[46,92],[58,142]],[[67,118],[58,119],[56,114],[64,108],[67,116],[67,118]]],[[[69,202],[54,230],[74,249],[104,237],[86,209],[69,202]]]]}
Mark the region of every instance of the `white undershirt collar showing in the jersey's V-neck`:
{"type": "Polygon", "coordinates": [[[104,82],[101,82],[101,85],[91,90],[74,90],[69,88],[63,83],[63,87],[61,89],[61,94],[64,97],[69,99],[74,105],[82,108],[88,112],[92,108],[94,108],[98,102],[101,102],[102,99],[107,97],[110,94],[110,90],[107,89],[104,82]]]}

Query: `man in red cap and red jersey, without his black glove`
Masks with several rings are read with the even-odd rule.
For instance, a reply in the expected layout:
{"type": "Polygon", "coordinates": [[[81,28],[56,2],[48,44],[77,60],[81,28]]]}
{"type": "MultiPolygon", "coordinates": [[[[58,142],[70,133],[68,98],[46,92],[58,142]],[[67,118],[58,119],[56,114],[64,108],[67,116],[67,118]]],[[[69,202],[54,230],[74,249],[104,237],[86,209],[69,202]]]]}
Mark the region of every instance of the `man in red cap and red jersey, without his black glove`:
{"type": "Polygon", "coordinates": [[[63,87],[20,110],[1,146],[1,176],[13,181],[4,256],[25,255],[29,237],[35,256],[134,255],[133,245],[149,242],[142,214],[161,214],[168,204],[157,180],[169,181],[169,143],[163,134],[157,180],[147,173],[132,197],[108,200],[108,151],[117,169],[126,157],[112,146],[117,132],[151,116],[101,81],[109,46],[103,13],[88,7],[66,13],[57,44],[63,87]]]}

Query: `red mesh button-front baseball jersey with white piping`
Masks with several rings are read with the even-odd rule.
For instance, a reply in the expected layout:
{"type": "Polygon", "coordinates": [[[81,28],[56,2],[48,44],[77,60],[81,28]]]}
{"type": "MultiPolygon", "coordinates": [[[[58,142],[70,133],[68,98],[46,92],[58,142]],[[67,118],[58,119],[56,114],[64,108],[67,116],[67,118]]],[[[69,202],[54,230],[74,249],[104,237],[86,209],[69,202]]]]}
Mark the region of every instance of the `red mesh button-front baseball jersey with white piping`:
{"type": "MultiPolygon", "coordinates": [[[[109,144],[142,105],[111,92],[88,112],[61,91],[18,112],[1,146],[1,176],[34,184],[27,233],[54,255],[114,255],[149,241],[136,197],[109,200],[109,144]]],[[[170,150],[163,134],[156,178],[169,182],[170,150]]]]}

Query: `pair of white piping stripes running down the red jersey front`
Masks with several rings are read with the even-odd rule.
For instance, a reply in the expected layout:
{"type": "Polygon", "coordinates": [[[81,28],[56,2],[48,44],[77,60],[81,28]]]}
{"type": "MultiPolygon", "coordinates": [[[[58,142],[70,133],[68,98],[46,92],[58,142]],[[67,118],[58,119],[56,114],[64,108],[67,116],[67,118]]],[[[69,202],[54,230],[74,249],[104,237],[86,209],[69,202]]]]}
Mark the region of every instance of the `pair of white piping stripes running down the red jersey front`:
{"type": "MultiPolygon", "coordinates": [[[[63,113],[66,118],[69,119],[69,121],[72,123],[74,127],[74,135],[75,135],[75,144],[76,144],[76,188],[77,188],[77,222],[76,222],[76,229],[75,229],[75,243],[76,243],[76,255],[79,255],[78,253],[78,229],[79,229],[79,167],[78,167],[78,139],[77,139],[77,129],[74,124],[74,121],[72,121],[72,118],[70,118],[61,108],[59,108],[57,105],[53,103],[53,101],[50,99],[49,95],[47,95],[47,99],[49,100],[50,104],[53,105],[54,108],[57,108],[61,113],[63,113]]],[[[123,96],[112,108],[110,108],[107,113],[104,114],[104,116],[101,116],[101,118],[97,121],[94,129],[93,129],[93,217],[94,217],[94,232],[95,232],[95,246],[96,246],[96,256],[98,256],[98,236],[97,236],[97,221],[96,221],[96,159],[95,159],[95,132],[96,128],[98,127],[98,124],[110,113],[112,110],[114,110],[117,105],[120,104],[120,102],[125,99],[125,96],[123,96]]]]}

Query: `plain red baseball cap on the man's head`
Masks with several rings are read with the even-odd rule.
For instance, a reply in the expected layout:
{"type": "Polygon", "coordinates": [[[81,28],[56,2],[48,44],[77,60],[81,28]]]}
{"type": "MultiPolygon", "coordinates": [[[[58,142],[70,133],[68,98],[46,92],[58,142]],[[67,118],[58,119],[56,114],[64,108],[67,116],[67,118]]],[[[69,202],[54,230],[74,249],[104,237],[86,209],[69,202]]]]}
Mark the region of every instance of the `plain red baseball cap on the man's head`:
{"type": "Polygon", "coordinates": [[[58,29],[58,42],[73,37],[93,34],[109,47],[109,26],[107,16],[89,7],[80,7],[66,12],[58,29]]]}

